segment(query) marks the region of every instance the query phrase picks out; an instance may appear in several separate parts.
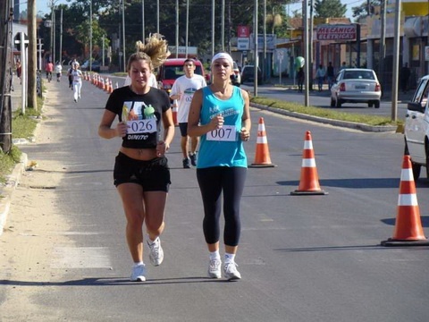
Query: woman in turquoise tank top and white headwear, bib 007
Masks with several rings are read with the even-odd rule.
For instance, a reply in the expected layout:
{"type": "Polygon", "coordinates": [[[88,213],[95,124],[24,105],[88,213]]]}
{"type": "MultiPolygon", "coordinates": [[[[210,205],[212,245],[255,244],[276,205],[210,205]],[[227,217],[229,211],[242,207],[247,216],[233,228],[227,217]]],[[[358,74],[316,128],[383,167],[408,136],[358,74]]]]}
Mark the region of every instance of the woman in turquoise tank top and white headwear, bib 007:
{"type": "Polygon", "coordinates": [[[250,137],[251,122],[248,92],[230,82],[232,65],[229,54],[218,53],[212,58],[213,80],[192,98],[188,133],[191,137],[201,137],[197,179],[204,204],[208,276],[221,278],[223,271],[226,279],[237,280],[241,278],[235,262],[241,230],[240,200],[248,167],[243,142],[250,137]],[[223,263],[219,250],[222,209],[223,263]]]}

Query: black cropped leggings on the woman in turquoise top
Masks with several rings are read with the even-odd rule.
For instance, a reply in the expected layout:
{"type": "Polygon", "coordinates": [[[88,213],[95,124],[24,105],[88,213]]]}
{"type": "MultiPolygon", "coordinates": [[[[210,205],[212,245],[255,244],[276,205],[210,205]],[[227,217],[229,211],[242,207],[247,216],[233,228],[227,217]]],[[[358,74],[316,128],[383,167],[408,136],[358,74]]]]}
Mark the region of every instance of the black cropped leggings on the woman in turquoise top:
{"type": "Polygon", "coordinates": [[[240,240],[240,199],[246,181],[247,168],[216,166],[197,169],[197,179],[204,204],[203,232],[206,243],[219,242],[221,195],[223,192],[223,216],[225,227],[223,242],[237,246],[240,240]]]}

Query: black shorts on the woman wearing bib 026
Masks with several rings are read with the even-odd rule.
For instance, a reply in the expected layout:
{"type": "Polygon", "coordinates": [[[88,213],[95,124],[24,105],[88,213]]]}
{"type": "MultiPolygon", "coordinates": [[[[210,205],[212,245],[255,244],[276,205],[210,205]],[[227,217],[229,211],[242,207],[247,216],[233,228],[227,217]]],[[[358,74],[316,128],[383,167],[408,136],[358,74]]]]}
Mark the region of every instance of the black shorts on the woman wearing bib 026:
{"type": "Polygon", "coordinates": [[[119,152],[114,162],[114,185],[137,183],[143,191],[165,191],[170,188],[170,168],[166,157],[142,161],[119,152]]]}

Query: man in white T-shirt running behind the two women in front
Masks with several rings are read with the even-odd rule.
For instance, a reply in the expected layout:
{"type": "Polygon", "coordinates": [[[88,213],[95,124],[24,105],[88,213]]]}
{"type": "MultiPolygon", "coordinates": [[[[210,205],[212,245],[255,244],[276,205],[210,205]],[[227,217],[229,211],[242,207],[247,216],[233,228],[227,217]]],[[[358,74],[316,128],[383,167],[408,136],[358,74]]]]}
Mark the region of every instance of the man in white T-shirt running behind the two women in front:
{"type": "Polygon", "coordinates": [[[183,64],[185,74],[174,81],[174,84],[172,84],[172,91],[170,92],[170,98],[177,99],[179,103],[177,119],[179,129],[181,130],[182,164],[185,169],[190,168],[190,165],[197,166],[197,148],[199,141],[198,136],[190,138],[189,149],[188,114],[190,102],[196,90],[207,86],[204,77],[196,74],[195,69],[195,61],[192,58],[186,59],[183,64]]]}

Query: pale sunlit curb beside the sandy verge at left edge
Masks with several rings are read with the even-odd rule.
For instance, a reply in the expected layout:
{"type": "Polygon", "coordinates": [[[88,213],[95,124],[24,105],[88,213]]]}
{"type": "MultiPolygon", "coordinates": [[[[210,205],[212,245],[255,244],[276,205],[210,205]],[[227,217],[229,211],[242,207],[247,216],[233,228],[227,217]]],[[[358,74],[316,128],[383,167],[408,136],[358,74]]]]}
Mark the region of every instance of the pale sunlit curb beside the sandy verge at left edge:
{"type": "Polygon", "coordinates": [[[11,208],[13,191],[20,182],[21,174],[25,171],[27,163],[27,154],[22,153],[20,162],[14,166],[12,174],[7,176],[7,182],[4,184],[4,187],[0,189],[0,236],[4,232],[4,225],[6,224],[9,209],[11,208]]]}

